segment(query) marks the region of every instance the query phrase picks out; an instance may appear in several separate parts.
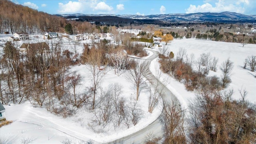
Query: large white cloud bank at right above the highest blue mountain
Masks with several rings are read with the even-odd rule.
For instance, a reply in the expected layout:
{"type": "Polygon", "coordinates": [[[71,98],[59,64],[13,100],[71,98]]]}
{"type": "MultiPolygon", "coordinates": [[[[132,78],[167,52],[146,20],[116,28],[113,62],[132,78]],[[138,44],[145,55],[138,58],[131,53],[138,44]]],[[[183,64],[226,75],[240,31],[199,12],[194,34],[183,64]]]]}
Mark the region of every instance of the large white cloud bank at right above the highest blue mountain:
{"type": "Polygon", "coordinates": [[[249,0],[218,0],[217,2],[211,4],[212,1],[204,1],[205,4],[202,5],[192,5],[190,4],[189,8],[186,9],[186,13],[196,13],[196,12],[238,12],[244,13],[247,10],[247,7],[250,6],[249,0]]]}

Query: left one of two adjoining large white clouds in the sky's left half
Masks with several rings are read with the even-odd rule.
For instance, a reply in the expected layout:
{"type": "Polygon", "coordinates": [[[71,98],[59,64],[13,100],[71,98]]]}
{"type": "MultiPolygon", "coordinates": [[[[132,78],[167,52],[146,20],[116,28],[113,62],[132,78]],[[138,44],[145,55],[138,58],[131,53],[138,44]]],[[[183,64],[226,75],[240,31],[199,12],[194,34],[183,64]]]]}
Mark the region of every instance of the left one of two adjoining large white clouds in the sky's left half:
{"type": "Polygon", "coordinates": [[[59,2],[59,10],[58,12],[62,14],[67,13],[76,13],[82,10],[82,3],[81,2],[72,2],[69,1],[67,4],[63,4],[59,2]]]}

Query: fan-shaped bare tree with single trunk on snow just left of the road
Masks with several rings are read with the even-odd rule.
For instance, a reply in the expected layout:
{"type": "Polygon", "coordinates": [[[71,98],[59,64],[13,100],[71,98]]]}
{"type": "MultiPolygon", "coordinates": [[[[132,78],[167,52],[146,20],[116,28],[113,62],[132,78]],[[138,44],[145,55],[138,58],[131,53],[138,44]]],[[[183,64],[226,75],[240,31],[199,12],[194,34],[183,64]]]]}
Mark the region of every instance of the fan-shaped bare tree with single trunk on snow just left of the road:
{"type": "Polygon", "coordinates": [[[136,87],[136,100],[139,99],[140,88],[149,75],[148,62],[132,61],[126,79],[136,87]]]}

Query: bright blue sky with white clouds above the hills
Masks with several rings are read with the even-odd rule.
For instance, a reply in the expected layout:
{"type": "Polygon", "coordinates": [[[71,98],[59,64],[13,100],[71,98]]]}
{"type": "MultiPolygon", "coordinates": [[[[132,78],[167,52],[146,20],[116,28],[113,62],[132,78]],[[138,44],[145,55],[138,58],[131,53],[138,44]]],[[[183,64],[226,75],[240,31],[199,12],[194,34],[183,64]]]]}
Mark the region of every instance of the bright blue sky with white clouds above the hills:
{"type": "Polygon", "coordinates": [[[256,14],[256,0],[11,0],[48,14],[256,14]]]}

